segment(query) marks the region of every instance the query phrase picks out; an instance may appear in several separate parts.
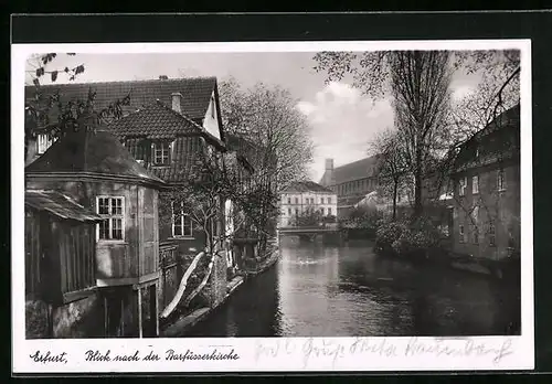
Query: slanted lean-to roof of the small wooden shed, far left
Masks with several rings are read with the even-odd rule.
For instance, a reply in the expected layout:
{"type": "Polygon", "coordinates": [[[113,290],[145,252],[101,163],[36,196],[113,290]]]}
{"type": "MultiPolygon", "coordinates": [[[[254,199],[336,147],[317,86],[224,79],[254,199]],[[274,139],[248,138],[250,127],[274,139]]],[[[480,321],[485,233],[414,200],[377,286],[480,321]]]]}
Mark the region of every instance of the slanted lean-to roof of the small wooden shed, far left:
{"type": "Polygon", "coordinates": [[[76,220],[78,222],[102,220],[91,210],[56,191],[26,190],[25,204],[39,211],[46,211],[61,218],[76,220]]]}

